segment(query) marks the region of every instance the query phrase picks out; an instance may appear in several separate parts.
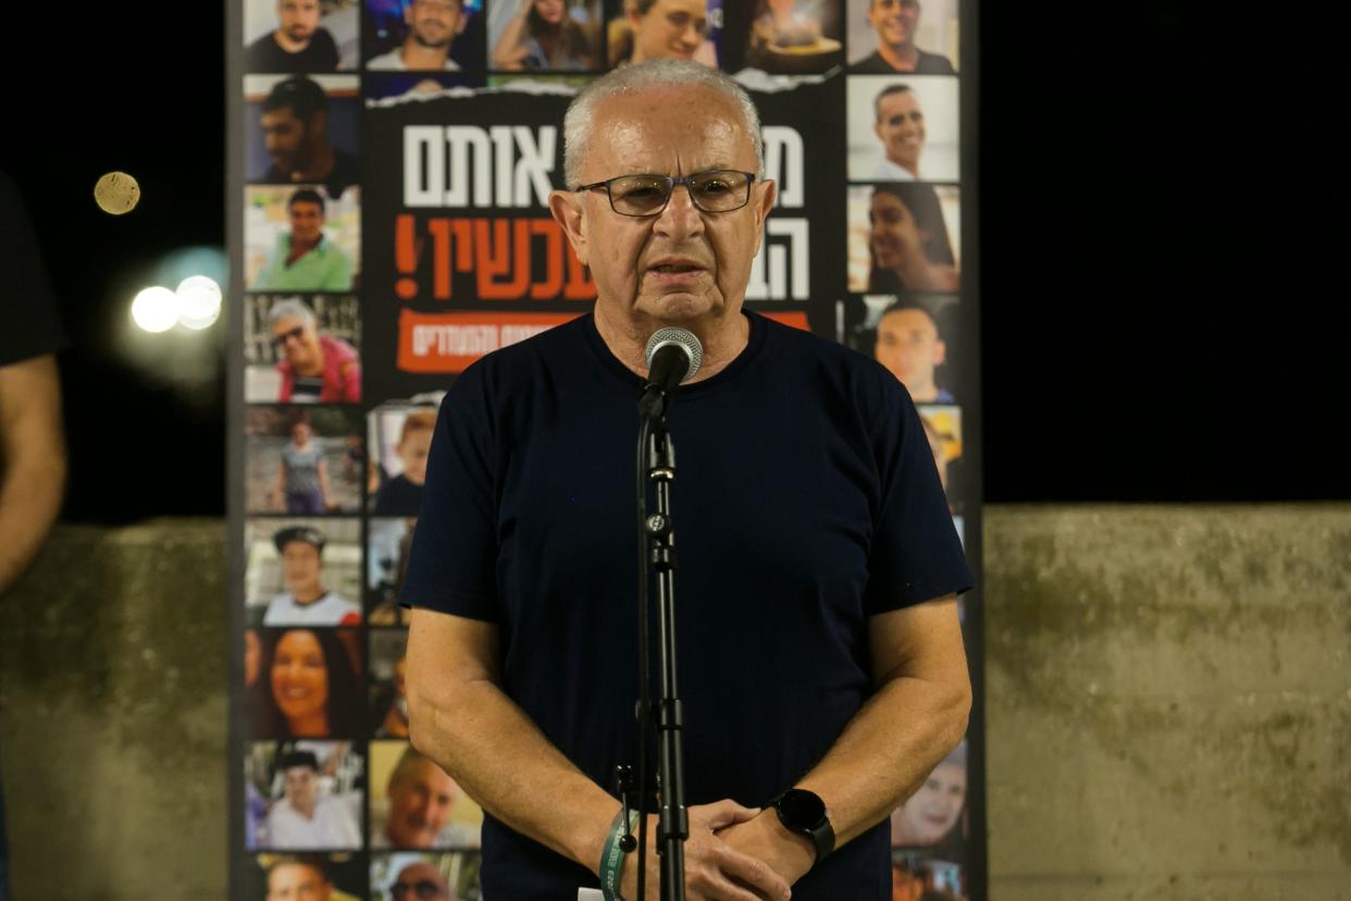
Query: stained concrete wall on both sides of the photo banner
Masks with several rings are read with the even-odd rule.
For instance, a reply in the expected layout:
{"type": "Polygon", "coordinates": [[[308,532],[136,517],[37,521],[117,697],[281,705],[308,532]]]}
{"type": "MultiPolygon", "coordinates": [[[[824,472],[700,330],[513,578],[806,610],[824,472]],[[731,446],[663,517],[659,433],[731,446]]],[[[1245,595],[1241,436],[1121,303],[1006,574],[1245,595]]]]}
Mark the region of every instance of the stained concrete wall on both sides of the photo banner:
{"type": "MultiPolygon", "coordinates": [[[[1351,898],[1351,507],[986,509],[990,897],[1351,898]]],[[[224,528],[63,527],[0,607],[27,898],[220,898],[224,528]]]]}

